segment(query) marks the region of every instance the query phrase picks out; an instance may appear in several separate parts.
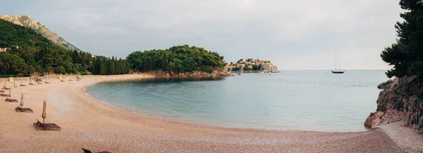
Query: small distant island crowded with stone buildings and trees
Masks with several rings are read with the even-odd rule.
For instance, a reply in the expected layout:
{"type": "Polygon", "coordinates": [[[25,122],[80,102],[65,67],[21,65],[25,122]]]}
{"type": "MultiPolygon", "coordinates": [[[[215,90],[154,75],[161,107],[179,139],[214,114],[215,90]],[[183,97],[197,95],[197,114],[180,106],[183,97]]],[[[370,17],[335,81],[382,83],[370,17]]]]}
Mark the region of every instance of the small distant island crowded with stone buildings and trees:
{"type": "Polygon", "coordinates": [[[278,66],[260,59],[240,59],[236,63],[226,63],[225,70],[231,73],[278,73],[278,66]]]}

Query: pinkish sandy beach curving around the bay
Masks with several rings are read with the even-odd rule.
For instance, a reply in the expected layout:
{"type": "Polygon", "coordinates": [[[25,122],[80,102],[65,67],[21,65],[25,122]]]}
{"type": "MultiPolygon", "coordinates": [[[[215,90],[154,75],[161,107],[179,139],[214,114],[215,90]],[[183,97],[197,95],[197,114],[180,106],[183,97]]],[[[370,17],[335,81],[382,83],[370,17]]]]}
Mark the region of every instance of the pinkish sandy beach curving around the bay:
{"type": "Polygon", "coordinates": [[[148,77],[87,76],[13,87],[11,99],[20,101],[24,94],[23,107],[34,112],[17,113],[18,103],[0,102],[0,152],[82,152],[81,147],[92,152],[403,152],[379,130],[325,133],[198,126],[142,116],[97,102],[83,92],[96,82],[148,77]],[[56,123],[61,131],[32,127],[36,119],[42,121],[44,99],[46,123],[56,123]]]}

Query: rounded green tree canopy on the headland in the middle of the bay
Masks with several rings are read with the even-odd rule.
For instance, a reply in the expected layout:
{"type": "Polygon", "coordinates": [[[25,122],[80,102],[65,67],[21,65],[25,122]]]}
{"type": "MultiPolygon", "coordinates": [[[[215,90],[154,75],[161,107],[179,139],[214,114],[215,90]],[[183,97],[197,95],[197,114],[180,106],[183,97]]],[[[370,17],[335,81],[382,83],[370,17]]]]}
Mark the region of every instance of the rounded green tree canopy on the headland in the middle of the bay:
{"type": "Polygon", "coordinates": [[[188,45],[165,50],[135,51],[126,57],[130,68],[137,71],[164,70],[175,73],[205,71],[223,68],[223,56],[217,52],[188,45]]]}

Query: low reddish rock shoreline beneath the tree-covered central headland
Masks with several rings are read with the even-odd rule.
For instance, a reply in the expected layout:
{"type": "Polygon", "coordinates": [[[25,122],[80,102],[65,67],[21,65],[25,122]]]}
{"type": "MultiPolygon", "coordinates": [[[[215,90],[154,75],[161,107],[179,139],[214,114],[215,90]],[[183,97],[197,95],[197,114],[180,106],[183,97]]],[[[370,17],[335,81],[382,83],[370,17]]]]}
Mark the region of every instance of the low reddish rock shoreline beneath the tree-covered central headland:
{"type": "Polygon", "coordinates": [[[228,77],[233,76],[232,73],[225,71],[215,70],[212,73],[207,73],[204,71],[193,71],[186,73],[173,73],[167,71],[150,71],[150,75],[154,75],[155,78],[219,78],[219,77],[228,77]]]}

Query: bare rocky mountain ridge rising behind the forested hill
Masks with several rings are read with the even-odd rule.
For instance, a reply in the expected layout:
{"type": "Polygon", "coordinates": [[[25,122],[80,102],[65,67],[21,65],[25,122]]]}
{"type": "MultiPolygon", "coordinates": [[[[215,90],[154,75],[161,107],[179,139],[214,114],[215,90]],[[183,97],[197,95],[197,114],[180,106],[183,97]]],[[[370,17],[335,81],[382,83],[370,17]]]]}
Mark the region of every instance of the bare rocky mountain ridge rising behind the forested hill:
{"type": "Polygon", "coordinates": [[[72,50],[81,51],[80,49],[78,49],[78,47],[75,47],[75,45],[71,44],[70,42],[66,42],[65,39],[63,39],[62,37],[59,37],[59,35],[57,35],[56,33],[51,32],[49,29],[47,29],[47,27],[42,25],[42,23],[32,20],[28,16],[0,15],[0,19],[7,20],[11,23],[14,23],[16,25],[20,25],[23,27],[29,27],[35,30],[35,32],[37,32],[38,34],[42,35],[43,37],[46,37],[47,39],[51,40],[51,42],[54,42],[54,44],[57,44],[60,47],[63,47],[64,49],[71,50],[71,51],[72,50]]]}

